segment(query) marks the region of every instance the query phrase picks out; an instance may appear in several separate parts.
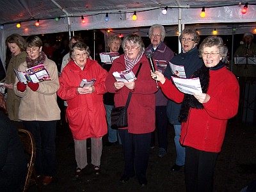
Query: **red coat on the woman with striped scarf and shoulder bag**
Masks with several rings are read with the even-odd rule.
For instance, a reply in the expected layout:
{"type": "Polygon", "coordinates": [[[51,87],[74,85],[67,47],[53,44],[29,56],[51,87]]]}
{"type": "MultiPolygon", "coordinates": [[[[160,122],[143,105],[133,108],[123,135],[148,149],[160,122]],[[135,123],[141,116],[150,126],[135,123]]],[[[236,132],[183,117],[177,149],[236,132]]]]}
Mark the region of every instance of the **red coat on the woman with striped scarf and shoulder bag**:
{"type": "MultiPolygon", "coordinates": [[[[132,72],[136,74],[140,63],[142,63],[140,72],[135,80],[135,88],[132,90],[132,97],[127,109],[128,114],[128,132],[133,134],[143,134],[155,130],[155,95],[157,92],[156,81],[150,76],[150,65],[148,59],[143,54],[141,60],[132,68],[132,72]]],[[[108,92],[115,93],[115,106],[125,106],[130,90],[124,86],[116,91],[113,72],[125,70],[124,54],[113,61],[106,79],[106,88],[108,92]]]]}

